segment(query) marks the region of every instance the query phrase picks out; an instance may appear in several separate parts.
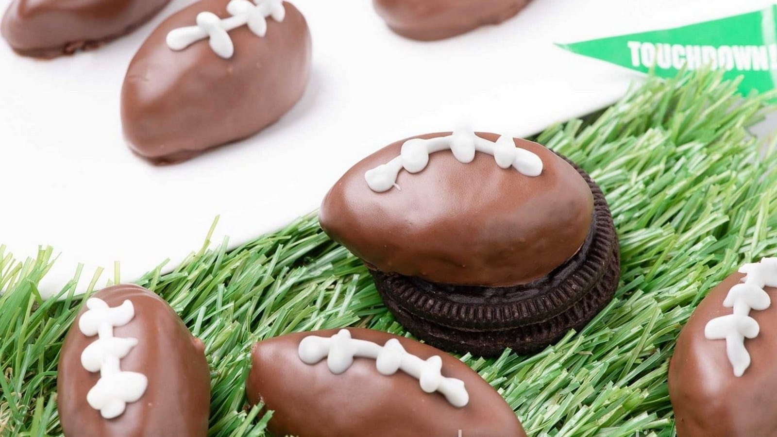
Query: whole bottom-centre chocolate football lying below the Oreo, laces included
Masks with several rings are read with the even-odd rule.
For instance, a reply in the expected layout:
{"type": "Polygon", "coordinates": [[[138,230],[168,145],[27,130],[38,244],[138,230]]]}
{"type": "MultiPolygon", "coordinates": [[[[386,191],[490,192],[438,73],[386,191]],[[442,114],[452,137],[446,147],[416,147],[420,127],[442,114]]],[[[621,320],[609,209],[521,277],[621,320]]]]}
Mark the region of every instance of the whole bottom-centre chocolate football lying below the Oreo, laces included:
{"type": "Polygon", "coordinates": [[[469,366],[378,330],[284,335],[253,348],[246,391],[274,411],[270,432],[301,437],[525,436],[469,366]]]}

